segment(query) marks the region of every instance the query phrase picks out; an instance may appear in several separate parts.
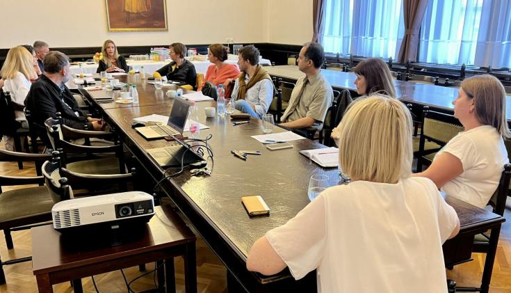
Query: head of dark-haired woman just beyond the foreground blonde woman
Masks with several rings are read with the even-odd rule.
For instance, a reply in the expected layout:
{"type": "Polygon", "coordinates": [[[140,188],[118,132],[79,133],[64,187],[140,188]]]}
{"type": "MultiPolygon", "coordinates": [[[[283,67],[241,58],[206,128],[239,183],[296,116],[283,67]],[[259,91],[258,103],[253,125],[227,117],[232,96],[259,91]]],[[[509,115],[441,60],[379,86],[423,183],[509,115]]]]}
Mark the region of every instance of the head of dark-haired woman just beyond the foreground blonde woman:
{"type": "Polygon", "coordinates": [[[396,97],[396,89],[392,81],[389,67],[381,58],[368,58],[355,67],[355,86],[359,95],[382,93],[396,97]]]}

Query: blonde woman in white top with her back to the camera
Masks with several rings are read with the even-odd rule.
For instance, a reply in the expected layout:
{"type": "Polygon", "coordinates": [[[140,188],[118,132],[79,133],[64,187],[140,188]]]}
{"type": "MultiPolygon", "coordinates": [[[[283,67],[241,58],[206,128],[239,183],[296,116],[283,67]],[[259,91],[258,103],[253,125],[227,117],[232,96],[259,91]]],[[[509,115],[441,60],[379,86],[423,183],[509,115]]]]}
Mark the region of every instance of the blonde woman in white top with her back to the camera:
{"type": "Polygon", "coordinates": [[[318,292],[447,292],[441,245],[459,231],[427,178],[410,177],[412,118],[398,100],[352,103],[339,126],[352,182],[330,187],[252,246],[247,268],[295,279],[317,269],[318,292]]]}

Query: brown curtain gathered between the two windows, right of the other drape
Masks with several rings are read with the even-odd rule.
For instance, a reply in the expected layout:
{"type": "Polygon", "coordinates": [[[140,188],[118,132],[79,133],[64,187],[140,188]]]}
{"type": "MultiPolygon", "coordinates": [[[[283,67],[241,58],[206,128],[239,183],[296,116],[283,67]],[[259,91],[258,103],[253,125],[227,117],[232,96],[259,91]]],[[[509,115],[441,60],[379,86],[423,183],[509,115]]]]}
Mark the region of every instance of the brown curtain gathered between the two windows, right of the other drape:
{"type": "Polygon", "coordinates": [[[428,0],[405,0],[403,1],[403,13],[405,14],[405,36],[399,49],[398,61],[417,61],[417,47],[419,46],[419,29],[428,0]]]}

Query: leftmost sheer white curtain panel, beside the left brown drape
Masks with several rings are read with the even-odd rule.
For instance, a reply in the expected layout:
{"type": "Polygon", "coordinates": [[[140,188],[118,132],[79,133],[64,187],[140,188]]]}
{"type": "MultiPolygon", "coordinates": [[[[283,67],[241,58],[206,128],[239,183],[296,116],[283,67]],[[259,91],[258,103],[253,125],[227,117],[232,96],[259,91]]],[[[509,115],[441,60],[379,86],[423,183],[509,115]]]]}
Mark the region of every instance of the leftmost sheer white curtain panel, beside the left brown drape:
{"type": "Polygon", "coordinates": [[[325,52],[350,54],[353,0],[325,0],[323,9],[325,52]]]}

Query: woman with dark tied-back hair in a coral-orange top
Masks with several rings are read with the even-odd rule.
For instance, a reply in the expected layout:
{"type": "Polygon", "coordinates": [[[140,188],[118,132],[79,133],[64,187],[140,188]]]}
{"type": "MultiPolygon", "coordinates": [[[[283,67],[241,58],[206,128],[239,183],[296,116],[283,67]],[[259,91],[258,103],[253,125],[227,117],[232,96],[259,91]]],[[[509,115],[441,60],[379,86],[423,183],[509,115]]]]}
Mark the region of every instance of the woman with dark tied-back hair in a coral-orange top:
{"type": "Polygon", "coordinates": [[[208,49],[208,60],[213,64],[209,65],[204,82],[197,90],[201,90],[206,81],[209,81],[215,86],[223,84],[225,97],[230,97],[232,93],[231,82],[238,77],[240,70],[234,64],[225,63],[227,54],[229,54],[229,47],[225,47],[222,44],[213,44],[208,49]]]}

